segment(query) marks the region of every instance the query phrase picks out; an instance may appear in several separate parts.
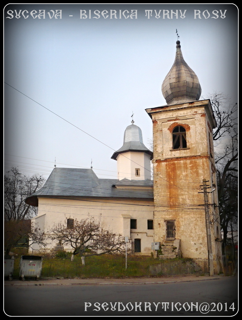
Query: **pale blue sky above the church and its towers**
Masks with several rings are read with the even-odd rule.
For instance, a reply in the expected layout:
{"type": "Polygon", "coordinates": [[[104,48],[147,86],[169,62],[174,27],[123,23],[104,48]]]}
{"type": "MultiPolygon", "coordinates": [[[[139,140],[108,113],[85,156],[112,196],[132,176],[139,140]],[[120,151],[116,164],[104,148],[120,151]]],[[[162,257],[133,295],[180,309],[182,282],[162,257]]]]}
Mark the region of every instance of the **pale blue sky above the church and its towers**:
{"type": "Polygon", "coordinates": [[[183,58],[198,76],[202,97],[220,91],[237,102],[238,9],[234,4],[7,5],[5,170],[18,166],[27,175],[40,173],[47,178],[55,158],[57,167],[88,168],[92,159],[99,177],[116,178],[117,162],[110,157],[123,145],[132,112],[149,147],[152,122],[145,109],[166,104],[161,85],[174,62],[176,29],[183,58]],[[17,14],[22,10],[19,19],[15,10],[17,14]],[[26,19],[23,10],[28,11],[26,19]],[[37,14],[45,10],[45,19],[33,19],[33,10],[37,14]],[[50,10],[62,10],[62,19],[50,19],[50,10]],[[87,19],[80,19],[80,10],[86,10],[87,19]],[[99,19],[93,18],[98,17],[95,10],[107,10],[108,17],[100,13],[99,19]],[[110,19],[110,10],[117,11],[118,19],[110,19]],[[125,19],[131,10],[137,10],[137,19],[125,19]],[[145,10],[153,10],[149,19],[145,10]],[[154,10],[162,10],[160,18],[154,10]],[[164,10],[170,19],[167,15],[163,19],[164,10]],[[175,15],[171,19],[171,10],[178,10],[178,19],[175,15]],[[183,19],[180,10],[186,10],[183,19]],[[194,19],[194,10],[200,10],[201,19],[194,19]],[[227,10],[224,18],[220,10],[222,14],[227,10]],[[13,18],[8,12],[13,12],[13,18]]]}

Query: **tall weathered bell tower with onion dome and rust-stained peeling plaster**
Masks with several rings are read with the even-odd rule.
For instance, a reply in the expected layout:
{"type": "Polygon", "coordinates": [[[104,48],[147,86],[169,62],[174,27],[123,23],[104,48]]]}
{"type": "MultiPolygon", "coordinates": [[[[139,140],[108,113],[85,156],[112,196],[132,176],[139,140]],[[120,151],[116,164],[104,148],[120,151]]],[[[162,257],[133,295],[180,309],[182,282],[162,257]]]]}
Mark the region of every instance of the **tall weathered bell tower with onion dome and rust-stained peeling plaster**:
{"type": "Polygon", "coordinates": [[[210,100],[199,100],[201,86],[183,59],[180,41],[162,93],[167,104],[146,109],[153,122],[154,241],[179,240],[183,257],[210,255],[211,269],[218,273],[222,249],[212,138],[216,122],[210,100]]]}

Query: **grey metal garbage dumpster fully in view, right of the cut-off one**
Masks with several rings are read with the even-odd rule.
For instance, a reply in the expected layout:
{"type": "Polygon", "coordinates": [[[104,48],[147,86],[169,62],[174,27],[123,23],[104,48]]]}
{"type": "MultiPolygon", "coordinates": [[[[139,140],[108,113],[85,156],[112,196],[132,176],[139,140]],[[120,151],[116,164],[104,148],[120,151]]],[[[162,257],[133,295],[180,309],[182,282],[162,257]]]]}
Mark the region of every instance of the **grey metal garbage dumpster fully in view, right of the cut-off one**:
{"type": "Polygon", "coordinates": [[[43,257],[21,256],[19,277],[23,281],[25,277],[35,277],[39,279],[42,270],[43,257]]]}

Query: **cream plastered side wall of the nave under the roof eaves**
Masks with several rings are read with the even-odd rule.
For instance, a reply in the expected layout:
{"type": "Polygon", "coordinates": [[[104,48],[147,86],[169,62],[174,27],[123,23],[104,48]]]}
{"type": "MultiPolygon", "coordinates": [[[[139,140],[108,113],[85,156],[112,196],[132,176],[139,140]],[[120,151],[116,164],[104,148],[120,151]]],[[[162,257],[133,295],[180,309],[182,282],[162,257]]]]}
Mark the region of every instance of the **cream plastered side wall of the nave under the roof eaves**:
{"type": "MultiPolygon", "coordinates": [[[[101,220],[105,229],[116,234],[128,236],[130,241],[141,239],[141,254],[150,254],[153,242],[153,230],[147,229],[147,220],[153,219],[153,200],[142,199],[57,199],[38,198],[38,216],[33,222],[39,222],[40,228],[46,233],[54,224],[66,223],[66,219],[87,219],[94,217],[101,220]],[[143,204],[143,205],[141,205],[143,204]],[[130,219],[137,220],[137,229],[130,229],[130,219]],[[138,236],[137,236],[138,233],[138,236]]],[[[56,241],[50,241],[47,249],[52,250],[56,241]]],[[[35,249],[39,249],[36,245],[35,249]]],[[[71,247],[65,246],[65,250],[71,247]]]]}

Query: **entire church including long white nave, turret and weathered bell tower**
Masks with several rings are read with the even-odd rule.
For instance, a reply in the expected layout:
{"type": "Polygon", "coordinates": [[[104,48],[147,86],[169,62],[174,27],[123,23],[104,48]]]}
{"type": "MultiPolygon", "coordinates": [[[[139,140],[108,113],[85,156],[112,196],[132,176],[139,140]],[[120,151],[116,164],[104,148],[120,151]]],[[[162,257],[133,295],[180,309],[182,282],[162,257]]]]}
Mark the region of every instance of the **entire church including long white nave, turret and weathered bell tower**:
{"type": "Polygon", "coordinates": [[[100,179],[92,168],[54,168],[26,203],[38,206],[32,220],[45,231],[65,219],[94,216],[103,228],[128,236],[135,254],[150,255],[158,248],[161,258],[209,257],[210,269],[218,273],[216,122],[210,100],[199,100],[198,77],[184,61],[180,41],[176,44],[174,64],[162,84],[167,104],[146,109],[153,123],[153,152],[132,120],[123,146],[111,156],[117,179],[100,179]]]}

